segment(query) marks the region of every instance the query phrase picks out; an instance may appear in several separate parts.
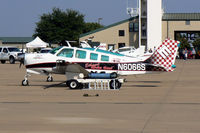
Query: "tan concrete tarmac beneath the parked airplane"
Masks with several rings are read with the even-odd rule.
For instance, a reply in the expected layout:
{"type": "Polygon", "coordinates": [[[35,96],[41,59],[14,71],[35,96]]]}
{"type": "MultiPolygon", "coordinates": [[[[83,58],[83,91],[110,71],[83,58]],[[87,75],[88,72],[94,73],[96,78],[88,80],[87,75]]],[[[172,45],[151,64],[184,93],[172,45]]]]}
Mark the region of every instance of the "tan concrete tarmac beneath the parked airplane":
{"type": "Polygon", "coordinates": [[[69,90],[62,75],[32,75],[24,87],[24,67],[0,64],[0,133],[199,133],[200,60],[176,65],[127,76],[120,90],[88,91],[69,90]]]}

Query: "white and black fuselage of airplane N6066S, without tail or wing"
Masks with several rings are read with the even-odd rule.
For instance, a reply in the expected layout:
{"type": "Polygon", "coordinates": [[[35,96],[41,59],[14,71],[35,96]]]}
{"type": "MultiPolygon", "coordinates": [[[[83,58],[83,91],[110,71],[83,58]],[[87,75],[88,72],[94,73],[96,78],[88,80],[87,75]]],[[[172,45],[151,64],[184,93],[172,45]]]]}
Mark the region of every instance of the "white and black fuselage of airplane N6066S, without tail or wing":
{"type": "Polygon", "coordinates": [[[47,54],[26,54],[25,66],[28,71],[56,73],[56,62],[63,60],[66,64],[79,64],[88,72],[131,75],[148,73],[148,64],[144,62],[148,58],[150,56],[128,57],[93,48],[59,47],[47,54]]]}

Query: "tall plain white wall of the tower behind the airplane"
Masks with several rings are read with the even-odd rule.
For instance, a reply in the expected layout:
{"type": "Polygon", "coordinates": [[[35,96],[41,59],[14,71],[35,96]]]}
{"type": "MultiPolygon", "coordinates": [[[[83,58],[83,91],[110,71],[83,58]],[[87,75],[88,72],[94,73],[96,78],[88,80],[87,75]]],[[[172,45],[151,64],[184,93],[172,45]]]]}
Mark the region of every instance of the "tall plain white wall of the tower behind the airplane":
{"type": "Polygon", "coordinates": [[[162,42],[162,0],[147,0],[147,47],[159,46],[162,42]]]}

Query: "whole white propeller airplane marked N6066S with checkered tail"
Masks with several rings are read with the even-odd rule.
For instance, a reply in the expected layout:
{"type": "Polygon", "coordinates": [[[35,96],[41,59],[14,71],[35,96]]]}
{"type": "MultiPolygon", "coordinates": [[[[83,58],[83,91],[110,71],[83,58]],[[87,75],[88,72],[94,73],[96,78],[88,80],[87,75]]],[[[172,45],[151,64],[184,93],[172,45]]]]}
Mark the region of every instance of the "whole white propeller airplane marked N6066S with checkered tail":
{"type": "Polygon", "coordinates": [[[176,68],[174,63],[179,45],[180,42],[167,39],[152,55],[138,57],[101,49],[65,46],[57,47],[48,54],[26,54],[24,64],[27,74],[22,85],[28,85],[30,73],[48,75],[49,82],[53,81],[51,74],[65,74],[69,85],[74,82],[74,76],[80,73],[83,78],[90,78],[91,73],[96,73],[98,78],[98,73],[131,75],[170,72],[176,68]]]}

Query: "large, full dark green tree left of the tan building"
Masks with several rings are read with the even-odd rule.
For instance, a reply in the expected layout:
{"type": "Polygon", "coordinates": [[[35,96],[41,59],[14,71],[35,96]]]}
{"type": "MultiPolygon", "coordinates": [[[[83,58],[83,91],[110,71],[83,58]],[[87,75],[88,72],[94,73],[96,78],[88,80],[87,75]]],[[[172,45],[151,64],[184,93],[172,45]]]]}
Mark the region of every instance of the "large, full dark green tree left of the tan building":
{"type": "Polygon", "coordinates": [[[43,14],[36,25],[34,37],[39,36],[46,42],[59,43],[62,40],[78,40],[85,22],[84,15],[77,11],[53,8],[53,12],[43,14]]]}

